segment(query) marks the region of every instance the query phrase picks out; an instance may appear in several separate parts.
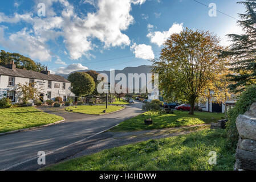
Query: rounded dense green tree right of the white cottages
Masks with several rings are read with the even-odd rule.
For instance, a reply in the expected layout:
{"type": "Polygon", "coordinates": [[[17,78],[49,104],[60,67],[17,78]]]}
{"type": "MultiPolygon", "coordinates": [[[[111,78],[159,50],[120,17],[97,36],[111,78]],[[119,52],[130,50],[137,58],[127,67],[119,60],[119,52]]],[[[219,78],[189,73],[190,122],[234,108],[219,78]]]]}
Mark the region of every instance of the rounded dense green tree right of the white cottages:
{"type": "Polygon", "coordinates": [[[94,92],[95,82],[87,73],[76,72],[68,76],[68,80],[71,82],[71,91],[76,96],[89,96],[94,92]]]}

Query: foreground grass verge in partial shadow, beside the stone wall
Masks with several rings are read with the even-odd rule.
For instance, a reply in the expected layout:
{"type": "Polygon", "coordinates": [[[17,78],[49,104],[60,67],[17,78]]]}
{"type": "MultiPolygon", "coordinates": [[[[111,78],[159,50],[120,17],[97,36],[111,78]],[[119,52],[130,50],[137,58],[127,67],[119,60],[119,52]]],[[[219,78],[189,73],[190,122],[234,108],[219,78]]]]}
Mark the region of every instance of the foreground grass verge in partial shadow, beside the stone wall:
{"type": "Polygon", "coordinates": [[[44,170],[52,171],[233,171],[234,151],[225,148],[224,130],[202,130],[179,137],[148,140],[68,160],[44,170]],[[210,165],[210,151],[217,152],[217,165],[210,165]]]}

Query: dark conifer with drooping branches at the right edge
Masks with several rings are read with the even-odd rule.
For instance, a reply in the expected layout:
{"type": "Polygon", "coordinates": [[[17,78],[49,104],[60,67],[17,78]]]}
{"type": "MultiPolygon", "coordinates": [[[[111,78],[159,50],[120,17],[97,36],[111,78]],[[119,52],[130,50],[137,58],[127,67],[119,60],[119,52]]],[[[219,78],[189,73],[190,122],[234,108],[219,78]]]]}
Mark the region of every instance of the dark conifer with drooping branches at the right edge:
{"type": "Polygon", "coordinates": [[[235,92],[256,83],[256,0],[238,2],[245,6],[245,14],[239,14],[239,26],[245,32],[242,35],[229,34],[233,42],[229,50],[222,51],[221,56],[231,57],[231,69],[236,73],[228,75],[229,88],[235,92]]]}

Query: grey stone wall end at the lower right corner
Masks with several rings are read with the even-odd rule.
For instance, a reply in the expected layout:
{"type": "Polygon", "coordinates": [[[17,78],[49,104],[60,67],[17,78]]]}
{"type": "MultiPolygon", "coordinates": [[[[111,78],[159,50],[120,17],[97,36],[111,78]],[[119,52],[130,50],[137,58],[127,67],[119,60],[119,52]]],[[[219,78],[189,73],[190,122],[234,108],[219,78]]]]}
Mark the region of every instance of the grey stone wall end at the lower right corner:
{"type": "Polygon", "coordinates": [[[237,117],[239,141],[235,170],[256,170],[256,102],[250,110],[237,117]]]}

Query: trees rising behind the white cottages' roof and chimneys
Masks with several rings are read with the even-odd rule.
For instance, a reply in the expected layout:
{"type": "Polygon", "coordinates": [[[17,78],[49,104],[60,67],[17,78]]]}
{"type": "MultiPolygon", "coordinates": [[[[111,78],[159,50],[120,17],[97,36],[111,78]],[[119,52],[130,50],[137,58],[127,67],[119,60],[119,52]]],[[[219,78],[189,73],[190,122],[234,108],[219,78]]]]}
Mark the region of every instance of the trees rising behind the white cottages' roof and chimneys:
{"type": "Polygon", "coordinates": [[[45,65],[36,63],[29,57],[22,56],[19,53],[10,53],[2,50],[0,53],[0,65],[9,64],[11,60],[13,60],[16,67],[20,69],[27,69],[36,72],[40,72],[46,69],[45,65]]]}

